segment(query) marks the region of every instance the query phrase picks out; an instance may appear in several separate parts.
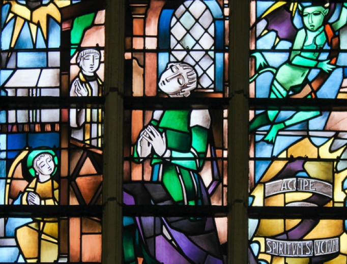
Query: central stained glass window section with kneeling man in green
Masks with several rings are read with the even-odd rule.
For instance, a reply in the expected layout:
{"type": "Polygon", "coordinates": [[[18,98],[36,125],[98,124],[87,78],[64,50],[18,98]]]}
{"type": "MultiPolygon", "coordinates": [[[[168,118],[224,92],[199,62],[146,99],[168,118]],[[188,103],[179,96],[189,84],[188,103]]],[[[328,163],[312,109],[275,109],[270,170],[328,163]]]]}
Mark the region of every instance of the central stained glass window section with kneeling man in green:
{"type": "Polygon", "coordinates": [[[125,263],[226,263],[227,6],[126,3],[125,263]]]}

